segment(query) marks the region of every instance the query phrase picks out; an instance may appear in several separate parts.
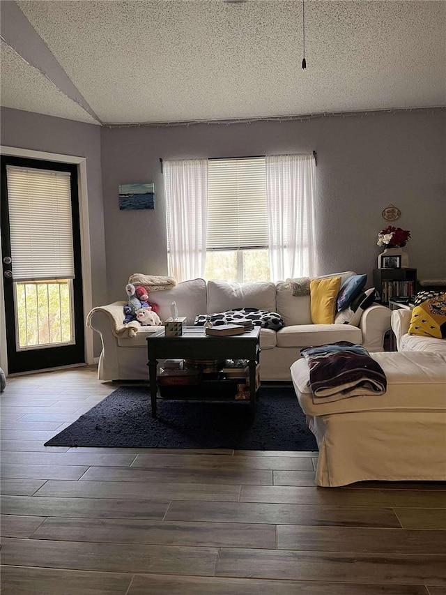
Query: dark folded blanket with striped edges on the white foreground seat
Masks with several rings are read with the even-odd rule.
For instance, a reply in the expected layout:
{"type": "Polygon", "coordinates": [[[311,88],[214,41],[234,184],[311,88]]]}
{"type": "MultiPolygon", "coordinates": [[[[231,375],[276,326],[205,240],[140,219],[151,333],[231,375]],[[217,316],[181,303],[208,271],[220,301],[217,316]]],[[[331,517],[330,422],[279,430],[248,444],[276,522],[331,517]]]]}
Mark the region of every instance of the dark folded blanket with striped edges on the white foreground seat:
{"type": "Polygon", "coordinates": [[[309,368],[314,402],[331,402],[359,395],[383,395],[387,379],[383,368],[364,347],[338,341],[300,352],[309,368]]]}

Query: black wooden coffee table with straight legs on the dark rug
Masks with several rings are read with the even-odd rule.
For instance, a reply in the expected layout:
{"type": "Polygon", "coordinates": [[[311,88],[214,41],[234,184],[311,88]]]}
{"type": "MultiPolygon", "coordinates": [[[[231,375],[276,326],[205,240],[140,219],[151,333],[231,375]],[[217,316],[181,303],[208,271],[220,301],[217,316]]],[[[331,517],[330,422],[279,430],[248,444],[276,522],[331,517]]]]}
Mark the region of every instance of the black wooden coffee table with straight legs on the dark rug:
{"type": "Polygon", "coordinates": [[[152,416],[157,416],[158,359],[247,359],[249,366],[249,405],[256,406],[256,365],[260,355],[260,326],[242,335],[207,336],[202,326],[186,326],[180,337],[156,333],[147,338],[148,377],[152,416]]]}

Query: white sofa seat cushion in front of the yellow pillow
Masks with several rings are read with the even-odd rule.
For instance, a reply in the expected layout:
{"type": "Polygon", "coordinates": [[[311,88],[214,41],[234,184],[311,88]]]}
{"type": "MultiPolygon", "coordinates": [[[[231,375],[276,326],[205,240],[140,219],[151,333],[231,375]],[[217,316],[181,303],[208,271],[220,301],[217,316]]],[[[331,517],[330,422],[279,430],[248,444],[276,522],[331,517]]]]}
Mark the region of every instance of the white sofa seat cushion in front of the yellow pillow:
{"type": "Polygon", "coordinates": [[[336,341],[362,343],[362,332],[350,324],[298,324],[277,331],[276,340],[277,347],[309,347],[336,341]]]}

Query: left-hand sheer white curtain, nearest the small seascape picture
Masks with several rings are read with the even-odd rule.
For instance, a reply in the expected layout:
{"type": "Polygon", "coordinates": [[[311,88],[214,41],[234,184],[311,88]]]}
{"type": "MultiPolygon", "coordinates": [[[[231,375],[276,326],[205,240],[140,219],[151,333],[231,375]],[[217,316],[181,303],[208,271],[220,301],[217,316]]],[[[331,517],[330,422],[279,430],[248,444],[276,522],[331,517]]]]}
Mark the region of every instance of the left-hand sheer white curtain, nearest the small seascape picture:
{"type": "Polygon", "coordinates": [[[164,161],[169,273],[177,281],[204,276],[208,160],[164,161]]]}

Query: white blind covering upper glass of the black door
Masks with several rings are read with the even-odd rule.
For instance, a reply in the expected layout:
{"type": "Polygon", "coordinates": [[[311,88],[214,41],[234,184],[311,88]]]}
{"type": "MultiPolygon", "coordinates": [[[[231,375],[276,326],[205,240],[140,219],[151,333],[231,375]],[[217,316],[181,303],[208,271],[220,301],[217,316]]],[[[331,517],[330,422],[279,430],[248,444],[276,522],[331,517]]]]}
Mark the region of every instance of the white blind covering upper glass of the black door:
{"type": "Polygon", "coordinates": [[[72,279],[70,174],[6,166],[13,279],[72,279]]]}

